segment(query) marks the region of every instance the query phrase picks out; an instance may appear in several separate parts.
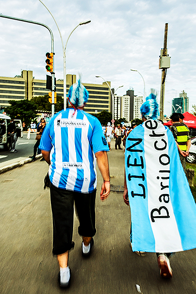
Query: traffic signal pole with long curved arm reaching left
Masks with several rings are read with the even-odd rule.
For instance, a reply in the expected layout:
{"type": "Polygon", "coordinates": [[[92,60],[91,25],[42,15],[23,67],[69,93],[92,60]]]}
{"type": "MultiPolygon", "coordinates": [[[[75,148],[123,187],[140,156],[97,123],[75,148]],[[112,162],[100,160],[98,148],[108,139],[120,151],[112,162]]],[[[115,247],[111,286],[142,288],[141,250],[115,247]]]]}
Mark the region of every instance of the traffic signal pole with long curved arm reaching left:
{"type": "MultiPolygon", "coordinates": [[[[38,23],[38,22],[34,22],[34,21],[29,21],[29,20],[24,20],[24,19],[19,19],[19,18],[14,18],[14,17],[3,15],[3,14],[0,14],[0,17],[6,18],[6,19],[15,20],[15,21],[20,21],[20,22],[35,24],[35,25],[39,25],[39,26],[45,27],[50,32],[50,37],[51,37],[51,52],[54,53],[54,37],[53,37],[53,33],[52,33],[51,29],[48,26],[46,26],[46,25],[44,25],[42,23],[38,23]]],[[[55,85],[54,85],[54,62],[53,62],[53,72],[51,72],[51,75],[52,75],[52,117],[53,117],[54,116],[54,91],[55,91],[55,85]]]]}

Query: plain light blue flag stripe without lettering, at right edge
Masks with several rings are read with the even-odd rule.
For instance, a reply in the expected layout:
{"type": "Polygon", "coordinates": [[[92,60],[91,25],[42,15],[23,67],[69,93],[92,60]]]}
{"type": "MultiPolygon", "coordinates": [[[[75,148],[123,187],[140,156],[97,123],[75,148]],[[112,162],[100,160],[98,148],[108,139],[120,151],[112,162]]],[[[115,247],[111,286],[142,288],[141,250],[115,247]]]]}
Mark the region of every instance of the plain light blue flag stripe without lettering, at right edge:
{"type": "Polygon", "coordinates": [[[181,238],[183,250],[195,248],[196,244],[196,206],[193,200],[188,181],[183,171],[177,146],[171,140],[172,133],[167,130],[168,141],[170,142],[170,200],[172,202],[178,231],[181,238]]]}

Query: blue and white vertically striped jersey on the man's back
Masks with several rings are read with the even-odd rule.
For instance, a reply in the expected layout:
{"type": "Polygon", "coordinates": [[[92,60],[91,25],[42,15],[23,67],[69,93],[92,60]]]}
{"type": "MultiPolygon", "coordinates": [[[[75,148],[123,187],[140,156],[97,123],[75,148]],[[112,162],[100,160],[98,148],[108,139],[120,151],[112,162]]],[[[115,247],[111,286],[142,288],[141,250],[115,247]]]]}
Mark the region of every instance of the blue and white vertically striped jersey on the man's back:
{"type": "Polygon", "coordinates": [[[74,109],[47,124],[39,148],[50,151],[49,177],[56,187],[90,193],[97,185],[95,153],[109,151],[97,118],[74,109]]]}

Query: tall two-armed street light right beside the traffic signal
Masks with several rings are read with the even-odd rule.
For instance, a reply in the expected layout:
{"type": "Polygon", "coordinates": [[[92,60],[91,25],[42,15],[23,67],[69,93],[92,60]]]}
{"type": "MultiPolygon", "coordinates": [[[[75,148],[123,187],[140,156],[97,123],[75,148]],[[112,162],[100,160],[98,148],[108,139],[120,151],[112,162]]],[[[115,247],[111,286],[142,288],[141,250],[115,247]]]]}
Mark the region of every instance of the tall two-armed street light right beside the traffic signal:
{"type": "Polygon", "coordinates": [[[67,108],[67,80],[66,80],[66,48],[67,48],[67,44],[68,44],[68,40],[70,39],[70,36],[72,35],[72,33],[81,25],[86,25],[89,24],[91,22],[91,20],[87,20],[84,22],[81,22],[80,24],[78,24],[78,26],[76,26],[76,28],[71,32],[70,36],[68,37],[68,40],[66,42],[66,46],[64,47],[63,44],[63,40],[62,40],[62,36],[60,33],[60,30],[58,28],[58,25],[53,17],[53,15],[51,14],[51,12],[49,11],[49,9],[45,6],[45,4],[39,0],[39,2],[41,2],[41,4],[43,4],[43,6],[47,9],[47,11],[50,13],[51,17],[53,18],[56,27],[58,29],[59,35],[60,35],[60,40],[61,40],[61,44],[62,44],[62,52],[63,52],[63,100],[64,100],[64,110],[66,110],[67,108]]]}

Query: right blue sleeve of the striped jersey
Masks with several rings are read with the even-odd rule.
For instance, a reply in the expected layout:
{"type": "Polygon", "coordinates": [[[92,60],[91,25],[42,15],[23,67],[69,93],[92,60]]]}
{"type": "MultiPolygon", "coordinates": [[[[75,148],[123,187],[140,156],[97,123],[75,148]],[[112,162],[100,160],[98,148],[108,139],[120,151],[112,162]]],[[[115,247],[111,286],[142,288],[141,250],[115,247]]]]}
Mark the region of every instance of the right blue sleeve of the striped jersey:
{"type": "Polygon", "coordinates": [[[93,134],[91,137],[93,152],[109,151],[109,147],[102,131],[101,124],[98,120],[94,122],[93,134]]]}

